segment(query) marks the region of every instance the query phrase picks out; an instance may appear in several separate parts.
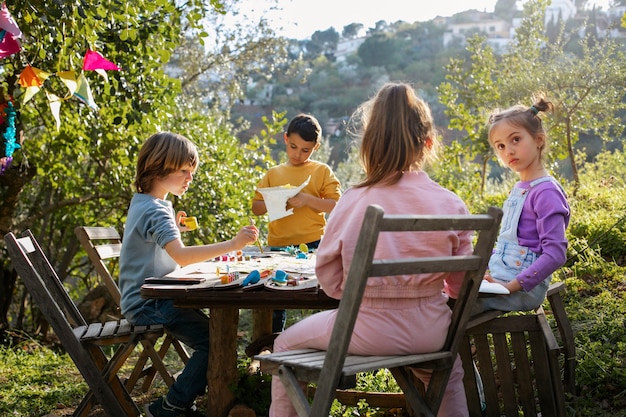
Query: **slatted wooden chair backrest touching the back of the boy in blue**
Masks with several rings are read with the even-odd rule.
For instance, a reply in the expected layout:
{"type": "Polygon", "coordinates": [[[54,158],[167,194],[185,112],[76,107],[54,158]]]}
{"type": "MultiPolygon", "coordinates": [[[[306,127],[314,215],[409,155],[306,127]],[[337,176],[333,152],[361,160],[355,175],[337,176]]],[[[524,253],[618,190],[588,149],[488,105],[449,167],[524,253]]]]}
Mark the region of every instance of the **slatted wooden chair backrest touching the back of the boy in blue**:
{"type": "Polygon", "coordinates": [[[122,250],[122,238],[114,227],[76,226],[74,233],[87,256],[96,268],[96,272],[104,281],[113,301],[119,306],[120,289],[107,267],[105,260],[119,258],[122,250]]]}

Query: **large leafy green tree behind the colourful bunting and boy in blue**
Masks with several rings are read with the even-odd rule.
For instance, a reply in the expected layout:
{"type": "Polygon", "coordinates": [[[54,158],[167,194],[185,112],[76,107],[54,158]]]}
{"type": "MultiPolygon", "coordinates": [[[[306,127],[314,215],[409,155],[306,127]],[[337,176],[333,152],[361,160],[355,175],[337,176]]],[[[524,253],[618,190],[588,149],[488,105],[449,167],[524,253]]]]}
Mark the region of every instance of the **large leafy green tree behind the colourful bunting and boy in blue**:
{"type": "MultiPolygon", "coordinates": [[[[203,196],[202,204],[186,207],[193,210],[202,227],[187,239],[224,238],[247,221],[243,204],[260,177],[255,164],[266,158],[264,143],[257,140],[241,146],[227,110],[202,105],[198,99],[181,99],[183,89],[199,78],[194,74],[215,70],[217,64],[183,69],[186,77],[180,78],[165,71],[172,52],[181,53],[177,48],[184,37],[190,31],[202,37],[203,17],[224,13],[225,2],[178,4],[170,0],[30,0],[11,7],[24,33],[23,50],[4,60],[0,86],[4,100],[12,100],[18,108],[18,137],[23,137],[23,142],[12,166],[0,175],[0,232],[32,229],[62,278],[78,278],[72,282],[73,291],[94,285],[89,264],[75,256],[74,226],[106,224],[122,230],[132,197],[137,151],[156,131],[187,135],[202,155],[203,165],[194,182],[197,195],[203,196]],[[98,107],[68,96],[61,102],[57,129],[49,97],[65,98],[67,88],[55,74],[80,73],[88,49],[98,51],[122,70],[108,71],[106,79],[85,71],[98,107]],[[24,103],[24,90],[17,80],[26,62],[52,75],[45,80],[43,91],[24,103]]],[[[224,42],[229,41],[232,38],[224,42]]],[[[225,47],[221,53],[230,53],[225,47]]],[[[230,65],[238,56],[247,59],[253,54],[250,48],[239,53],[231,53],[230,65]]],[[[257,53],[268,56],[260,49],[257,53]]],[[[220,59],[220,63],[226,61],[226,57],[220,59]]],[[[231,81],[241,80],[231,77],[231,81]]],[[[175,206],[182,208],[185,201],[175,199],[175,206]]],[[[15,288],[15,274],[4,253],[2,261],[0,284],[8,291],[2,291],[0,299],[0,330],[8,326],[7,314],[17,314],[26,297],[15,288]],[[20,298],[12,311],[9,302],[16,291],[20,298]]]]}

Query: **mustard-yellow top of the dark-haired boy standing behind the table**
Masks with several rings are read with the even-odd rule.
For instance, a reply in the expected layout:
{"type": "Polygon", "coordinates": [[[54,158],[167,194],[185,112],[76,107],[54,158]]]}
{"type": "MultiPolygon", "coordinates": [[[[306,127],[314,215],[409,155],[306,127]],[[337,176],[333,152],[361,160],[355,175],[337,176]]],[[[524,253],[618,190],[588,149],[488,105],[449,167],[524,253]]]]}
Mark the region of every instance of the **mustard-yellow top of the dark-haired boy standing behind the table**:
{"type": "MultiPolygon", "coordinates": [[[[311,180],[302,193],[318,198],[330,198],[335,201],[341,197],[341,185],[330,169],[322,162],[310,160],[304,165],[292,166],[280,164],[270,168],[261,179],[257,188],[279,187],[290,184],[294,187],[302,184],[311,176],[311,180]]],[[[263,200],[258,191],[253,201],[263,200]]],[[[289,205],[287,209],[289,209],[289,205]]],[[[326,227],[326,216],[310,207],[294,208],[293,214],[269,224],[267,243],[270,246],[289,246],[309,243],[321,239],[326,227]]]]}

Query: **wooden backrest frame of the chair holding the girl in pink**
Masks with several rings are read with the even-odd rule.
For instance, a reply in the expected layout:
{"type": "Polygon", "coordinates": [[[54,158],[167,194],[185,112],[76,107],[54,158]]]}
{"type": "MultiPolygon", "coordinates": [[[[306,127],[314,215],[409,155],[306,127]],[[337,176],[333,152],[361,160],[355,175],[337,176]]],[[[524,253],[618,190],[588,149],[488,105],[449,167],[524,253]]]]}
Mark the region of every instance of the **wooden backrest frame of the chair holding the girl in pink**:
{"type": "MultiPolygon", "coordinates": [[[[321,408],[317,410],[316,403],[320,407],[323,407],[323,404],[316,399],[332,395],[337,386],[369,277],[465,271],[463,286],[455,302],[452,321],[442,348],[442,351],[450,352],[452,358],[456,357],[489,262],[501,217],[502,211],[495,207],[490,207],[487,214],[476,215],[385,215],[380,206],[371,205],[367,208],[345,285],[350,291],[345,291],[342,295],[319,377],[320,381],[328,383],[317,387],[312,415],[323,413],[321,408]],[[478,232],[478,239],[471,255],[374,259],[381,232],[462,230],[478,232]]],[[[426,393],[429,403],[432,403],[433,399],[440,401],[443,397],[451,365],[443,372],[433,373],[426,393]]]]}

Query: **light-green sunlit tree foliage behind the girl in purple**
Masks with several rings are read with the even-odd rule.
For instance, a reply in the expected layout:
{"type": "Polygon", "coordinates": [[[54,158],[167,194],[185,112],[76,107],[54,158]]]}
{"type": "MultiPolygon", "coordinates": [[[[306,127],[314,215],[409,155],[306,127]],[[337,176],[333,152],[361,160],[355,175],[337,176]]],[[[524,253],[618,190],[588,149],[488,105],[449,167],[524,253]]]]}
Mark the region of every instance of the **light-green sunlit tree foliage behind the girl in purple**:
{"type": "MultiPolygon", "coordinates": [[[[449,81],[440,87],[441,97],[451,126],[467,132],[473,148],[480,149],[485,139],[476,119],[480,112],[517,103],[530,105],[535,93],[544,92],[556,106],[554,117],[544,121],[552,143],[549,157],[568,160],[576,189],[580,182],[576,162],[579,135],[595,134],[606,142],[623,133],[618,116],[625,108],[626,71],[621,64],[625,57],[610,38],[597,42],[581,39],[579,54],[565,50],[569,38],[563,31],[554,43],[548,42],[543,31],[537,30],[543,28],[546,5],[545,0],[524,4],[525,17],[515,42],[497,65],[489,58],[492,51],[488,45],[470,43],[470,52],[487,56],[482,65],[491,75],[480,65],[464,69],[462,62],[453,61],[449,81]],[[469,72],[464,74],[464,70],[469,72]],[[467,104],[476,109],[468,110],[467,104]]],[[[484,114],[483,120],[486,117],[484,114]]]]}

